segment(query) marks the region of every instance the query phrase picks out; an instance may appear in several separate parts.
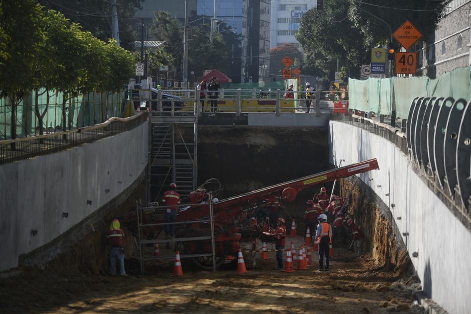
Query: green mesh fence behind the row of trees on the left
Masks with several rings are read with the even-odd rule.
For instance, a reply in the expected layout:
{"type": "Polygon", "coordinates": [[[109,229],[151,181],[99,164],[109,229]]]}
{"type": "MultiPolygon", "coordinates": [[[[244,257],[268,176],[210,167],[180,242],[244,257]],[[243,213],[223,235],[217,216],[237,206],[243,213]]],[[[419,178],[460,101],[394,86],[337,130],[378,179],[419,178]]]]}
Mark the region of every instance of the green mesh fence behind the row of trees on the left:
{"type": "MultiPolygon", "coordinates": [[[[38,91],[39,112],[46,108],[46,93],[38,91]]],[[[15,108],[17,137],[39,135],[39,119],[35,114],[35,92],[25,97],[15,108]]],[[[123,93],[92,92],[66,101],[67,128],[90,126],[111,117],[120,116],[123,93]]],[[[0,139],[11,138],[12,106],[0,99],[0,139]]],[[[44,134],[62,130],[62,93],[49,91],[49,105],[43,118],[44,134]]]]}

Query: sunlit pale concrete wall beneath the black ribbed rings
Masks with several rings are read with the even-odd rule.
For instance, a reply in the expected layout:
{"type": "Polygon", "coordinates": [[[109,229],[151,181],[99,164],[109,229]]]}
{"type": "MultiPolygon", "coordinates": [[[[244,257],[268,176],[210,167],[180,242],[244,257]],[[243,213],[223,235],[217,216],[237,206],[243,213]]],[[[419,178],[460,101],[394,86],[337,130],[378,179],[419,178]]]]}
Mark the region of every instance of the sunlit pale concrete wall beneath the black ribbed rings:
{"type": "Polygon", "coordinates": [[[418,257],[411,259],[428,297],[450,313],[468,313],[471,308],[469,229],[428,188],[414,172],[407,156],[393,143],[346,123],[330,121],[329,127],[333,164],[338,165],[341,159],[345,160],[344,164],[378,159],[380,170],[362,174],[360,178],[385,204],[395,205],[389,209],[409,255],[418,252],[418,257]]]}

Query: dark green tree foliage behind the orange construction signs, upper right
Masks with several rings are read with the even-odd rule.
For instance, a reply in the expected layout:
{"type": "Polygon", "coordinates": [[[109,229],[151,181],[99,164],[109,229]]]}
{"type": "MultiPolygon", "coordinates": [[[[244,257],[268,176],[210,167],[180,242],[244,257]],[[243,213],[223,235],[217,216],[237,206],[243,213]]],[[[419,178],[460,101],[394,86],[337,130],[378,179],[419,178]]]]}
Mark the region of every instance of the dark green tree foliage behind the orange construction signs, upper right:
{"type": "Polygon", "coordinates": [[[350,77],[358,76],[360,66],[369,63],[370,49],[389,42],[385,22],[394,32],[410,19],[424,34],[431,33],[445,5],[446,1],[325,0],[324,10],[311,9],[301,19],[296,37],[305,52],[303,70],[332,74],[338,59],[350,77]]]}

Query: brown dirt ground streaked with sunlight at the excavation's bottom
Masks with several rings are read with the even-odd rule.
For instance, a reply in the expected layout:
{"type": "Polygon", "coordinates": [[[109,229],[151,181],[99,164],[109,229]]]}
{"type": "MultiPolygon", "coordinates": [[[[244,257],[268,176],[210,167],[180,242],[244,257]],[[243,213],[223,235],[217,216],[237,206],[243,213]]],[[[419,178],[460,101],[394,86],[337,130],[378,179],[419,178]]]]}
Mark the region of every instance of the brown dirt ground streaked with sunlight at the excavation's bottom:
{"type": "MultiPolygon", "coordinates": [[[[20,276],[0,280],[0,311],[423,312],[413,305],[414,279],[401,278],[397,269],[375,268],[368,255],[355,259],[346,247],[334,251],[330,272],[321,273],[317,256],[309,270],[284,273],[272,270],[275,253],[269,254],[268,261],[258,254],[256,268],[246,274],[238,274],[233,264],[216,273],[201,271],[188,260],[182,261],[182,278],[172,276],[171,262],[150,268],[148,275],[126,277],[24,269],[20,276]]],[[[250,254],[245,258],[249,264],[250,254]]]]}

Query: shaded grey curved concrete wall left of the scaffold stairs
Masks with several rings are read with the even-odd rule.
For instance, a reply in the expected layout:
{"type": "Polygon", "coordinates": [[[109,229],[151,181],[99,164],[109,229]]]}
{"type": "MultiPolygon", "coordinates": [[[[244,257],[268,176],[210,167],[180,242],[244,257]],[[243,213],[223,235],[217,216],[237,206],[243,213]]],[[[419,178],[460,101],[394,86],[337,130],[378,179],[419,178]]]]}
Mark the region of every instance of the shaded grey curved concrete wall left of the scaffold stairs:
{"type": "Polygon", "coordinates": [[[148,146],[144,122],[93,143],[0,166],[0,271],[18,266],[21,254],[54,240],[130,187],[146,168],[148,146]]]}

